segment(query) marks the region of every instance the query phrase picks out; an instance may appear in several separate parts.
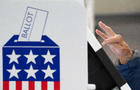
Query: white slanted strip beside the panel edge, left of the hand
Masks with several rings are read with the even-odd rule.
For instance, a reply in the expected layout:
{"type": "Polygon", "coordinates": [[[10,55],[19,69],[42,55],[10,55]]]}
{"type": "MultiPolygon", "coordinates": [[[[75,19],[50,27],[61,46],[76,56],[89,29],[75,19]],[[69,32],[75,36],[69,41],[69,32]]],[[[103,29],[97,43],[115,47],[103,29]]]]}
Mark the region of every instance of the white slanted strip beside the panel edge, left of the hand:
{"type": "Polygon", "coordinates": [[[101,44],[99,43],[95,35],[89,30],[89,28],[87,28],[87,41],[95,52],[102,48],[101,44]]]}

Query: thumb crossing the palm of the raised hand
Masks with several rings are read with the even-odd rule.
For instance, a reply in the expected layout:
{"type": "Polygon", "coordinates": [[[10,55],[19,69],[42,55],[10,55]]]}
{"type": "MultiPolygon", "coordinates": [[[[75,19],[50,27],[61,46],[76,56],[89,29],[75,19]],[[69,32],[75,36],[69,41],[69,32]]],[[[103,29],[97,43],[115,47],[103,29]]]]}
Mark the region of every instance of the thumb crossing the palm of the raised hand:
{"type": "Polygon", "coordinates": [[[107,44],[112,44],[112,43],[119,43],[119,42],[122,42],[122,41],[123,41],[122,36],[117,34],[113,37],[105,39],[102,44],[107,45],[107,44]]]}

